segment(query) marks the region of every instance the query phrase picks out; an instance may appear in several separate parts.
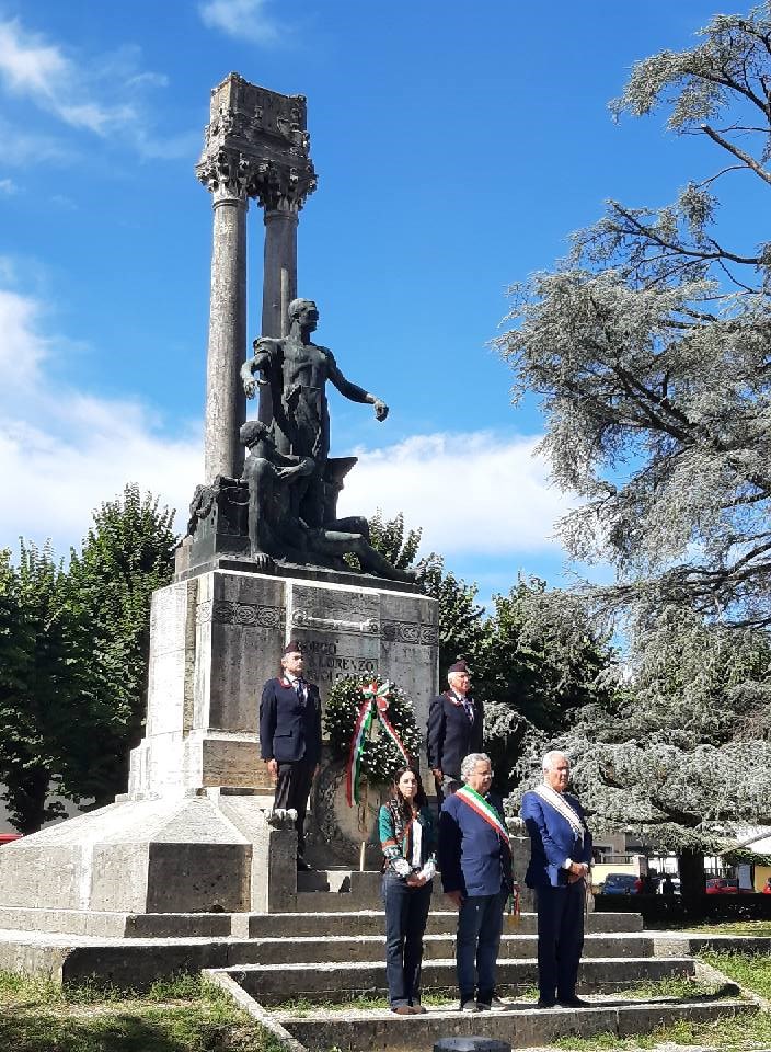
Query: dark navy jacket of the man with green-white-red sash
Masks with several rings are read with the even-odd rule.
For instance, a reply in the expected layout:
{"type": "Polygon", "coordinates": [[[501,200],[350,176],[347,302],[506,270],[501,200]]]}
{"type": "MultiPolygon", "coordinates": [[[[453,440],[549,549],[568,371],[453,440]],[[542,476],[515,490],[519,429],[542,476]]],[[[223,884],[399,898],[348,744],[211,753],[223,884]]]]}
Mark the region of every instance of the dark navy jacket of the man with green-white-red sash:
{"type": "MultiPolygon", "coordinates": [[[[485,799],[503,822],[500,797],[485,799]]],[[[457,796],[447,797],[439,814],[439,868],[444,890],[463,895],[497,895],[514,883],[508,841],[457,796]]]]}

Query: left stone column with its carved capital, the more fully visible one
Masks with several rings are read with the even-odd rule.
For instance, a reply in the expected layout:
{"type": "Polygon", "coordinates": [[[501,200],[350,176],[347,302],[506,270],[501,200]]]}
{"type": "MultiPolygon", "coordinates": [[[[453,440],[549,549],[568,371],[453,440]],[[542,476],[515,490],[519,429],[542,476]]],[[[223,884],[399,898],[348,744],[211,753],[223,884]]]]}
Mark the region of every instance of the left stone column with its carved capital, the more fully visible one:
{"type": "Polygon", "coordinates": [[[214,198],[204,418],[204,477],[207,484],[218,474],[238,478],[243,467],[239,428],[246,419],[240,369],[246,355],[248,174],[245,159],[226,150],[198,172],[214,198]]]}

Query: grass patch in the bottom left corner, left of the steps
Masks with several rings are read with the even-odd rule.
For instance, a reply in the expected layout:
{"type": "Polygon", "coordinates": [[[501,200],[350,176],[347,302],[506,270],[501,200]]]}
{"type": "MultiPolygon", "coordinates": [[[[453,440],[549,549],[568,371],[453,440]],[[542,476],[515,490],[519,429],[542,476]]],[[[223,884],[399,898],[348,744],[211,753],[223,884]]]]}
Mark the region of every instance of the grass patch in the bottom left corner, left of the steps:
{"type": "Polygon", "coordinates": [[[0,1049],[13,1052],[277,1052],[266,1030],[195,976],[147,993],[62,988],[0,972],[0,1049]]]}

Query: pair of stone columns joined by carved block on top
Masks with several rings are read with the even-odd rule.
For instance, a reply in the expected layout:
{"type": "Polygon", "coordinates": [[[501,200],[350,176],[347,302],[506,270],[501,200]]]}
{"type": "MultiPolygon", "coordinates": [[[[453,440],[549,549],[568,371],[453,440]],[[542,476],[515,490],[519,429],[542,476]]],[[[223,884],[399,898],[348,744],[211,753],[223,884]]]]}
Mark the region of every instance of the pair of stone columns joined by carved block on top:
{"type": "MultiPolygon", "coordinates": [[[[246,356],[246,206],[265,210],[262,333],[286,333],[297,296],[297,219],[315,190],[303,95],[280,95],[229,73],[211,91],[209,123],[196,175],[214,194],[211,310],[206,388],[206,483],[239,476],[246,419],[240,369],[246,356]]],[[[250,341],[251,343],[251,341],[250,341]]],[[[269,423],[269,397],[260,419],[269,423]]]]}

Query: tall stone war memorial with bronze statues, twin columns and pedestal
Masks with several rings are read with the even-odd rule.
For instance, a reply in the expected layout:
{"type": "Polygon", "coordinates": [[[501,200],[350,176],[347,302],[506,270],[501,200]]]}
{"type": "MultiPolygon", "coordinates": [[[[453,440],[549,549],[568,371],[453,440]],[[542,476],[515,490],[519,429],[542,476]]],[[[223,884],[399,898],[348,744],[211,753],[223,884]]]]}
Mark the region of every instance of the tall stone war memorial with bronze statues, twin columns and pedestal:
{"type": "MultiPolygon", "coordinates": [[[[337,517],[355,458],[330,456],[326,388],[371,404],[378,420],[388,407],[311,341],[319,312],[297,298],[298,216],[317,182],[306,100],[231,73],[211,93],[196,175],[214,207],[204,476],[175,581],[152,599],[146,736],[124,797],[0,856],[0,907],[20,911],[22,927],[44,928],[51,912],[56,929],[85,931],[100,913],[291,905],[295,834],[267,824],[257,739],[262,685],[284,647],[301,642],[322,699],[347,673],[398,681],[421,727],[436,686],[436,602],[369,545],[365,518],[337,517]],[[248,357],[250,201],[264,210],[265,262],[262,333],[248,357]]],[[[322,786],[334,808],[336,786],[322,786]]],[[[344,828],[334,847],[345,855],[344,828]]],[[[335,860],[319,838],[314,851],[335,860]]]]}

